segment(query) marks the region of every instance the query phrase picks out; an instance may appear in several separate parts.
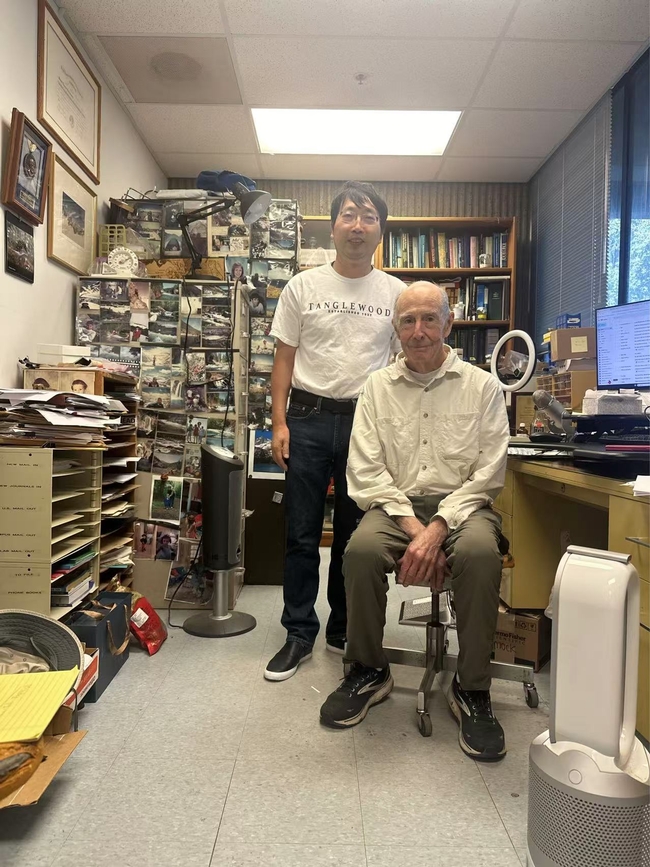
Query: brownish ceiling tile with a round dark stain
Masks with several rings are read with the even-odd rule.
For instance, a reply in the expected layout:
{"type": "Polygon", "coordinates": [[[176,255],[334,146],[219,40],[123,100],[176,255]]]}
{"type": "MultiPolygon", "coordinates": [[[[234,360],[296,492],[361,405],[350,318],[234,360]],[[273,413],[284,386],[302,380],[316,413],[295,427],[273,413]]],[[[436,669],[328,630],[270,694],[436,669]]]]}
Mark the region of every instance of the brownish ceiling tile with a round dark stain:
{"type": "Polygon", "coordinates": [[[100,36],[136,102],[241,105],[225,39],[100,36]]]}

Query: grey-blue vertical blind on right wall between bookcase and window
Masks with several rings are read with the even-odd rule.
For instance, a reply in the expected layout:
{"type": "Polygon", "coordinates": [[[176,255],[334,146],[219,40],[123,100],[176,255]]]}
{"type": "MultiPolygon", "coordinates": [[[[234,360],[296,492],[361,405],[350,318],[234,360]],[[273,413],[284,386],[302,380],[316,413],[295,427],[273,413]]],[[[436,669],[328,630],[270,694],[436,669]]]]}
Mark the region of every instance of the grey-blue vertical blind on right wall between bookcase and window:
{"type": "Polygon", "coordinates": [[[537,343],[560,313],[590,326],[605,304],[610,126],[607,93],[530,182],[537,343]]]}

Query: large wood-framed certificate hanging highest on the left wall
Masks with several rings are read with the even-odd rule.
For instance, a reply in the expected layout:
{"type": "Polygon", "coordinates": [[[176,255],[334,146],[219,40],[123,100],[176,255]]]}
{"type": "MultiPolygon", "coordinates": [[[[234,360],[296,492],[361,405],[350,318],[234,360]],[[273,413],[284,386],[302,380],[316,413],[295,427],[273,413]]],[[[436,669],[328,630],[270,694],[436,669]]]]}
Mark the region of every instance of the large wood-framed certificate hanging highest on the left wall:
{"type": "Polygon", "coordinates": [[[99,183],[102,88],[47,0],[38,3],[38,120],[99,183]]]}

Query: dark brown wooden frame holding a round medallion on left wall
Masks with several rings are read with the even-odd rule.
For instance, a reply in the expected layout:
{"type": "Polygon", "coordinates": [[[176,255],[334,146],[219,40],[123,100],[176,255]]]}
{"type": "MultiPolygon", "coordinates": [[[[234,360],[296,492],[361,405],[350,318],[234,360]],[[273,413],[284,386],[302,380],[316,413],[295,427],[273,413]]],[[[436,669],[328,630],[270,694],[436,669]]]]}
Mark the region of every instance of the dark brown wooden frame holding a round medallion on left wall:
{"type": "Polygon", "coordinates": [[[45,217],[52,145],[22,111],[11,115],[9,156],[2,184],[2,204],[29,223],[45,217]]]}

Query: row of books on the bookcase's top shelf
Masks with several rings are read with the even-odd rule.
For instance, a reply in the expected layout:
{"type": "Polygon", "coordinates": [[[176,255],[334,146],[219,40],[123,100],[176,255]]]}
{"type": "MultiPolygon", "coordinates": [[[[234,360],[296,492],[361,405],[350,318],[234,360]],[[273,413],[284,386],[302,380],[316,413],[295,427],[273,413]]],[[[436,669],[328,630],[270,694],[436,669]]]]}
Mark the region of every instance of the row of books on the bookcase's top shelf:
{"type": "Polygon", "coordinates": [[[384,268],[507,268],[508,233],[448,238],[433,229],[401,229],[384,235],[384,268]],[[486,261],[479,261],[479,256],[486,261]]]}

